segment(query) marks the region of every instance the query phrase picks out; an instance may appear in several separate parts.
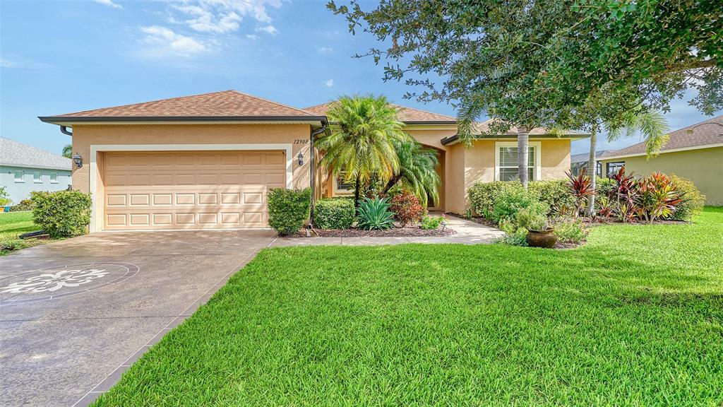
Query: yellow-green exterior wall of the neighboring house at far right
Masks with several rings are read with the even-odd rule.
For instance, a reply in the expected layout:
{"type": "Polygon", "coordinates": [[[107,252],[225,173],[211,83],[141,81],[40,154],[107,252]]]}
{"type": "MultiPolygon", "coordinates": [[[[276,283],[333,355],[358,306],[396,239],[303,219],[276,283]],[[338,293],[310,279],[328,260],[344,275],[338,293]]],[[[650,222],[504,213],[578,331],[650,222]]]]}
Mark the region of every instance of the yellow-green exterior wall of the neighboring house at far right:
{"type": "Polygon", "coordinates": [[[604,172],[607,163],[623,161],[628,173],[646,176],[659,171],[688,178],[706,196],[706,205],[723,206],[723,147],[662,153],[649,160],[634,156],[601,161],[604,172]]]}

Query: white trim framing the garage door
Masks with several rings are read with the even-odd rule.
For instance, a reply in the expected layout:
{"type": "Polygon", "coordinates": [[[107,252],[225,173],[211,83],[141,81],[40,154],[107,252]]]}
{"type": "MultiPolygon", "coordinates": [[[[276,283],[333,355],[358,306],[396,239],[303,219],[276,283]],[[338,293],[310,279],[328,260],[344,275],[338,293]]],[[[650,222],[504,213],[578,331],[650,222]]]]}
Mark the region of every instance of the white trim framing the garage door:
{"type": "Polygon", "coordinates": [[[99,232],[103,228],[103,197],[96,193],[100,169],[98,169],[98,153],[106,151],[253,151],[253,150],[283,150],[286,151],[286,188],[294,185],[294,155],[291,152],[291,143],[261,143],[261,144],[92,144],[90,145],[90,196],[93,199],[90,214],[90,232],[99,232]],[[100,202],[98,202],[100,201],[100,202]],[[100,205],[100,210],[98,210],[100,205]]]}

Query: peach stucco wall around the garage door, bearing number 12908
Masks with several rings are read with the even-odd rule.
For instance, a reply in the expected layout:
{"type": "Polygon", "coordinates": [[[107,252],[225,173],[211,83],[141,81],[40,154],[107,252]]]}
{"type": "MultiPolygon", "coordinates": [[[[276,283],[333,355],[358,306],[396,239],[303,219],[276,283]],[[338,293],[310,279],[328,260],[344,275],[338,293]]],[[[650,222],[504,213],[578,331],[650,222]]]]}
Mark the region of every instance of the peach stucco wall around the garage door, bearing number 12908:
{"type": "MultiPolygon", "coordinates": [[[[304,154],[304,165],[293,161],[294,188],[309,186],[309,140],[310,125],[74,125],[73,151],[80,153],[85,164],[73,169],[73,189],[90,192],[90,146],[108,144],[257,144],[288,143],[294,158],[299,151],[304,154]]],[[[103,196],[103,154],[95,157],[95,195],[103,196]]],[[[102,216],[103,202],[94,197],[95,217],[102,216]]],[[[102,218],[100,218],[102,219],[102,218]]]]}

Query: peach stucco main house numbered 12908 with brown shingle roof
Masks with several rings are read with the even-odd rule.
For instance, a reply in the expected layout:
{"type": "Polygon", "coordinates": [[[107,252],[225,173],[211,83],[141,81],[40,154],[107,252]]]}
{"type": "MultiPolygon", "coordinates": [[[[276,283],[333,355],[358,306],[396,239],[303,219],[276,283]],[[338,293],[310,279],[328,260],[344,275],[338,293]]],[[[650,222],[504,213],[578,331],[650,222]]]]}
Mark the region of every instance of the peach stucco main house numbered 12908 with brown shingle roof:
{"type": "MultiPolygon", "coordinates": [[[[309,109],[236,91],[40,117],[72,127],[73,188],[93,193],[90,230],[268,227],[269,188],[306,188],[315,197],[344,185],[312,162],[312,137],[328,132],[328,105],[309,109]],[[314,135],[314,136],[312,136],[314,135]]],[[[440,154],[439,209],[464,213],[474,182],[517,176],[515,130],[458,142],[454,117],[400,106],[406,131],[440,154]]],[[[479,124],[480,134],[487,123],[479,124]]],[[[565,177],[570,140],[530,132],[531,180],[565,177]]]]}

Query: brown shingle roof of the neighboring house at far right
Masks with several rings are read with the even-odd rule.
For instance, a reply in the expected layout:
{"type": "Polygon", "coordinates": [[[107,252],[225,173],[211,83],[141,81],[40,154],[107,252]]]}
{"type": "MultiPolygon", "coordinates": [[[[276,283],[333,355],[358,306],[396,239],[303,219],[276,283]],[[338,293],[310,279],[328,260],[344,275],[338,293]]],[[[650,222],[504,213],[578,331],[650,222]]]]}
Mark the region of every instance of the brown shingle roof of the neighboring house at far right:
{"type": "MultiPolygon", "coordinates": [[[[695,148],[698,146],[709,146],[711,144],[723,143],[723,115],[713,117],[704,122],[696,123],[669,134],[669,139],[660,152],[675,150],[678,148],[695,148]]],[[[645,142],[633,144],[620,150],[608,151],[602,156],[617,157],[645,154],[645,142]]]]}

